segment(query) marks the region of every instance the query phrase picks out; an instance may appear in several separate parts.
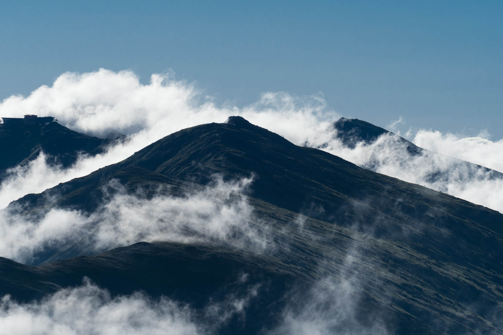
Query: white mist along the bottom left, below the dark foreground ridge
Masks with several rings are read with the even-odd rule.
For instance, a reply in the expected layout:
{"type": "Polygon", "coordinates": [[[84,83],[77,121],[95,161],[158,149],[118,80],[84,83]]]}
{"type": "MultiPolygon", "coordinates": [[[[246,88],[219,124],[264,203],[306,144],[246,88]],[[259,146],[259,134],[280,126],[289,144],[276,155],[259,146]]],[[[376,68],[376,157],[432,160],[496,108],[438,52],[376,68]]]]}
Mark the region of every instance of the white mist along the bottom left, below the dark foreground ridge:
{"type": "Polygon", "coordinates": [[[85,278],[41,301],[20,304],[0,299],[0,334],[213,334],[240,314],[258,294],[258,285],[227,294],[200,310],[166,297],[142,293],[112,297],[85,278]],[[218,313],[216,315],[215,313],[218,313]]]}

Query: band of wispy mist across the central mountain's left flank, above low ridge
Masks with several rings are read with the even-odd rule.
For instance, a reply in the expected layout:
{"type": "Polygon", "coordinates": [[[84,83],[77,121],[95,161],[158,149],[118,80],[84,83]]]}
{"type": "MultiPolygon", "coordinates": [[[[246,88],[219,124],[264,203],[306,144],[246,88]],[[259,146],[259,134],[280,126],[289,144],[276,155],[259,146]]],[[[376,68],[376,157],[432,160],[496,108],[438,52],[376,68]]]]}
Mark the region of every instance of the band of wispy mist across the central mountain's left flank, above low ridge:
{"type": "MultiPolygon", "coordinates": [[[[223,182],[182,196],[159,189],[153,197],[128,194],[117,181],[113,193],[91,214],[52,208],[47,212],[0,212],[0,255],[33,263],[37,253],[79,242],[92,253],[139,241],[214,241],[260,252],[268,246],[267,228],[254,214],[245,193],[251,178],[223,182]]],[[[74,255],[69,255],[71,257],[74,255]]]]}

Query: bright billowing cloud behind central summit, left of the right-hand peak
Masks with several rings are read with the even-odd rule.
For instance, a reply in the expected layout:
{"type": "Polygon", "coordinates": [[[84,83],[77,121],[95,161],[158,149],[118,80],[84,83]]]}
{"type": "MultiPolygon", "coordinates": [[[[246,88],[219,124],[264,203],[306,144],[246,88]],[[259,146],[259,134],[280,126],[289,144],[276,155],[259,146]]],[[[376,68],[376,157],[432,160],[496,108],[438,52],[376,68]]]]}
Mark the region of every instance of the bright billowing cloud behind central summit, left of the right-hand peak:
{"type": "Polygon", "coordinates": [[[217,106],[194,85],[154,74],[141,84],[132,71],[100,69],[91,73],[67,72],[52,86],[41,86],[29,96],[10,96],[0,103],[0,116],[23,114],[55,116],[63,126],[97,136],[117,130],[130,137],[103,155],[82,156],[69,169],[47,167],[43,156],[8,172],[0,186],[0,207],[27,193],[38,193],[59,182],[83,176],[123,160],[150,143],[184,128],[224,122],[240,115],[251,123],[279,133],[294,143],[320,143],[337,114],[327,111],[321,94],[294,97],[266,92],[243,108],[217,106]]]}

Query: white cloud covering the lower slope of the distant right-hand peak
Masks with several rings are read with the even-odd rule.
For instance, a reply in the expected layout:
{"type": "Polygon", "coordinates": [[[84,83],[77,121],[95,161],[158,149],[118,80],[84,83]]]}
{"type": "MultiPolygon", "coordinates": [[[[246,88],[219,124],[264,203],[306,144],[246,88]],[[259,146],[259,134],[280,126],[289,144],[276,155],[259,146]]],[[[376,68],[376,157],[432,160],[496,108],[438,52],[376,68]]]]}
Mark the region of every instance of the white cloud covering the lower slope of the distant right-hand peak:
{"type": "MultiPolygon", "coordinates": [[[[416,139],[426,142],[428,134],[436,136],[436,132],[421,131],[416,139]]],[[[479,150],[485,150],[485,146],[491,146],[495,151],[493,156],[500,157],[503,153],[503,142],[490,142],[489,140],[458,139],[458,150],[453,150],[451,145],[453,136],[440,137],[432,143],[437,148],[450,147],[447,152],[452,156],[469,159],[478,163],[479,150]],[[443,143],[442,141],[445,141],[443,143]],[[458,153],[457,155],[454,155],[458,153]],[[471,154],[470,154],[471,153],[471,154]]],[[[407,152],[407,144],[397,136],[383,134],[371,145],[360,142],[354,149],[345,147],[338,139],[332,139],[324,147],[334,155],[340,156],[361,167],[386,174],[407,182],[424,185],[437,191],[448,193],[456,197],[481,204],[486,207],[503,212],[503,179],[494,171],[486,171],[477,166],[466,164],[458,159],[447,155],[439,155],[433,151],[425,151],[421,155],[410,155],[407,152]]],[[[489,157],[486,161],[492,160],[489,157]]],[[[483,159],[479,159],[483,161],[483,159]]],[[[497,164],[492,164],[498,167],[497,164]]]]}

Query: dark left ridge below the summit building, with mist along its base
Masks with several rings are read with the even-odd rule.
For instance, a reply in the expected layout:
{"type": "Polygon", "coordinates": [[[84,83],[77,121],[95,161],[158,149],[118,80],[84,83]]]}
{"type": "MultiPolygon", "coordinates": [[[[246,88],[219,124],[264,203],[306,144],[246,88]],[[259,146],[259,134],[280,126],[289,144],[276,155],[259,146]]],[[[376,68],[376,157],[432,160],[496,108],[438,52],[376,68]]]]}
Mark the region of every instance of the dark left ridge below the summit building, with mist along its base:
{"type": "Polygon", "coordinates": [[[1,127],[0,208],[27,193],[41,192],[86,175],[107,160],[120,160],[114,159],[114,155],[127,142],[124,136],[114,139],[88,136],[57,122],[42,127],[1,127]]]}

